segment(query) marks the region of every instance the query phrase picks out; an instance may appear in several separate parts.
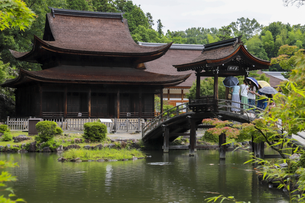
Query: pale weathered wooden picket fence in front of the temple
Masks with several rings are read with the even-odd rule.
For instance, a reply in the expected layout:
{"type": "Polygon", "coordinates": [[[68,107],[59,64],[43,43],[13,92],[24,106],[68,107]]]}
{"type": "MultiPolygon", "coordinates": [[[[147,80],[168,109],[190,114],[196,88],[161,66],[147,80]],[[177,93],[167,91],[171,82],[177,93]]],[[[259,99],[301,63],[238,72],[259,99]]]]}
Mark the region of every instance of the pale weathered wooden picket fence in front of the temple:
{"type": "MultiPolygon", "coordinates": [[[[145,124],[150,120],[144,121],[140,118],[110,118],[112,123],[104,123],[110,132],[116,131],[141,131],[142,122],[145,124]]],[[[6,124],[12,130],[28,130],[29,118],[10,118],[7,117],[6,124]]],[[[44,121],[54,121],[63,130],[84,130],[84,124],[87,122],[96,122],[98,119],[82,119],[82,118],[68,118],[68,119],[44,119],[44,121]],[[63,122],[62,122],[63,121],[63,122]]]]}

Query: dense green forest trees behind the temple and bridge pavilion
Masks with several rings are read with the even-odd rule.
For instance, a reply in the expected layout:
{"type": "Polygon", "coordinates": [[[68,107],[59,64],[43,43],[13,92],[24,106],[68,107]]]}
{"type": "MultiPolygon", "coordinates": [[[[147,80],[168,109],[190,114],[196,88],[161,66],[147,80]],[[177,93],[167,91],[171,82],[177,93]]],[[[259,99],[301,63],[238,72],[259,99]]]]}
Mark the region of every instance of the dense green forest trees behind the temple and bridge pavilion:
{"type": "MultiPolygon", "coordinates": [[[[34,35],[42,38],[45,27],[45,15],[50,12],[48,6],[54,8],[74,9],[98,12],[125,12],[124,18],[132,38],[137,43],[169,43],[174,44],[209,44],[242,35],[242,41],[247,50],[254,56],[270,61],[273,65],[269,71],[285,71],[294,64],[294,55],[303,55],[305,48],[305,25],[290,25],[273,22],[267,26],[261,25],[256,19],[241,17],[229,25],[216,27],[191,27],[187,30],[163,31],[161,19],[155,20],[149,12],[143,12],[140,5],[126,0],[24,0],[27,6],[36,14],[36,20],[27,29],[15,26],[0,31],[0,83],[6,79],[15,78],[20,68],[26,70],[41,70],[39,64],[17,61],[9,52],[30,51],[34,35]],[[157,23],[157,30],[152,26],[157,23]],[[283,46],[284,45],[284,46],[283,46]],[[282,47],[280,49],[280,47],[282,47]],[[284,59],[283,60],[283,56],[284,59]]],[[[1,9],[1,5],[0,5],[1,9]]],[[[203,20],[204,24],[204,20],[203,20]]],[[[0,97],[6,103],[14,103],[13,89],[0,88],[0,97]],[[2,95],[2,96],[1,96],[2,95]]],[[[0,98],[1,100],[1,98],[0,98]]],[[[12,106],[12,105],[11,105],[12,106]]],[[[12,107],[13,108],[13,107],[12,107]]],[[[11,109],[12,109],[11,108],[11,109]]],[[[10,114],[8,108],[0,110],[0,117],[10,114]]],[[[12,114],[11,114],[12,115],[12,114]]]]}

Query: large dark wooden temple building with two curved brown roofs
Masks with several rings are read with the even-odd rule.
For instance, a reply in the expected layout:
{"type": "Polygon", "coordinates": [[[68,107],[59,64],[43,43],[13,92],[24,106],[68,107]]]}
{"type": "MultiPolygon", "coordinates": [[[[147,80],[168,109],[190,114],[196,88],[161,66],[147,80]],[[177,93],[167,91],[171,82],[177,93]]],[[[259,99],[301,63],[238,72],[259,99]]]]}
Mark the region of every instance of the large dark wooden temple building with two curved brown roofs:
{"type": "Polygon", "coordinates": [[[172,43],[136,44],[123,13],[50,9],[32,50],[10,50],[17,60],[42,65],[1,85],[16,88],[17,117],[153,118],[154,95],[190,76],[141,70],[172,43]]]}

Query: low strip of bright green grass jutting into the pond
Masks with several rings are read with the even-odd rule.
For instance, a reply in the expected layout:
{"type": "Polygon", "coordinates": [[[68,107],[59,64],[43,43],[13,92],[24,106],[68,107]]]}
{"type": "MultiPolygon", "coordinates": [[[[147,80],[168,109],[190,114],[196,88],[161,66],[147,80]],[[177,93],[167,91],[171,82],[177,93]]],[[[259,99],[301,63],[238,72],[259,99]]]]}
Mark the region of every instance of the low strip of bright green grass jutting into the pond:
{"type": "Polygon", "coordinates": [[[69,149],[63,152],[62,156],[65,159],[76,159],[81,160],[98,160],[98,159],[131,159],[133,156],[145,157],[145,153],[138,151],[137,149],[109,149],[102,148],[101,150],[88,150],[88,149],[69,149]]]}

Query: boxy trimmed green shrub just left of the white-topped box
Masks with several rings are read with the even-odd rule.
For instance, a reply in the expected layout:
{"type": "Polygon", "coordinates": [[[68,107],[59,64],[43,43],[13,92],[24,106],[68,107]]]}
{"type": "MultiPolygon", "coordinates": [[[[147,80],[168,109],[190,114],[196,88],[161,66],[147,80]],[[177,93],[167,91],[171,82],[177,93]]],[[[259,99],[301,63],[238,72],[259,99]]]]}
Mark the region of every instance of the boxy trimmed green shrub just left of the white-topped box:
{"type": "Polygon", "coordinates": [[[106,138],[107,126],[100,122],[89,122],[84,124],[85,139],[91,139],[91,141],[102,141],[106,138]]]}

